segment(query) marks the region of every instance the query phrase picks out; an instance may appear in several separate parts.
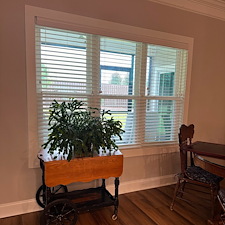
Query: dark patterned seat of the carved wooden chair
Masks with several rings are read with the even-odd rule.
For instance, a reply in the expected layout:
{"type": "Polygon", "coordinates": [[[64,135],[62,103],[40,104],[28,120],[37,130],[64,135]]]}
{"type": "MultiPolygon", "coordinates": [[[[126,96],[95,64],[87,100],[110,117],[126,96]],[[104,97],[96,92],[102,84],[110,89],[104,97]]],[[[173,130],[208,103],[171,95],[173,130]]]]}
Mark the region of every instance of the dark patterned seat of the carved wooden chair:
{"type": "Polygon", "coordinates": [[[185,171],[185,175],[191,180],[199,181],[205,184],[216,185],[223,180],[222,177],[214,175],[199,166],[188,167],[185,171]]]}

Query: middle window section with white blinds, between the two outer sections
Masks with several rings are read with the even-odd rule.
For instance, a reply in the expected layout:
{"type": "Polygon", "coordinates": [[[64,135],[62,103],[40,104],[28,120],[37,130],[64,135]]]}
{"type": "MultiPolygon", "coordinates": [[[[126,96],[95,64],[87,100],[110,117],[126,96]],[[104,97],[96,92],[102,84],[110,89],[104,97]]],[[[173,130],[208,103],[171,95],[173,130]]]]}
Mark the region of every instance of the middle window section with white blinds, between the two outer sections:
{"type": "Polygon", "coordinates": [[[111,110],[125,130],[123,140],[117,140],[117,144],[138,142],[134,96],[136,46],[133,41],[100,39],[101,108],[111,110]]]}

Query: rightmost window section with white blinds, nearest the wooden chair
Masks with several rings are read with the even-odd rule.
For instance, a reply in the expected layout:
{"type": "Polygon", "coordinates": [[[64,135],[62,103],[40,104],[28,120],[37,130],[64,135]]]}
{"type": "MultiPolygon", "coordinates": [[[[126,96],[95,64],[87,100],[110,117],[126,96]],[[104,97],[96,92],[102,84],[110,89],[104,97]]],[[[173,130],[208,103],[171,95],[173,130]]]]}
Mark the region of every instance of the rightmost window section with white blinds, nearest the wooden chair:
{"type": "Polygon", "coordinates": [[[145,142],[177,140],[183,121],[187,50],[148,45],[145,142]]]}

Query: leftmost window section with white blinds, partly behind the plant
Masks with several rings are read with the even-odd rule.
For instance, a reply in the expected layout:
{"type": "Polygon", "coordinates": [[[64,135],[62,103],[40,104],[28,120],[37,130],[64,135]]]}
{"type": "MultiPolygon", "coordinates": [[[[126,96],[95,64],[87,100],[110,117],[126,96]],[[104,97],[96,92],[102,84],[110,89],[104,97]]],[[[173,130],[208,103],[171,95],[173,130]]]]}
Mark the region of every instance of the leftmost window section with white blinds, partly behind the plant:
{"type": "Polygon", "coordinates": [[[36,26],[36,86],[40,145],[48,137],[50,104],[92,94],[91,35],[36,26]]]}

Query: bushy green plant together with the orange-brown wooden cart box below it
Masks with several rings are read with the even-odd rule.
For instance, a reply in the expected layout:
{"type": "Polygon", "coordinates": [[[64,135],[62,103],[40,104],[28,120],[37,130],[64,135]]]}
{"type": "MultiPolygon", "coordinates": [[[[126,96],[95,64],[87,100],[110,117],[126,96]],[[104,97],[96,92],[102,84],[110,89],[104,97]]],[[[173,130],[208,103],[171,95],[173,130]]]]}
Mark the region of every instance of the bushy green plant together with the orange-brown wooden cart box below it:
{"type": "Polygon", "coordinates": [[[39,157],[43,184],[54,187],[121,176],[123,155],[117,151],[116,138],[121,140],[124,130],[110,111],[87,107],[76,99],[62,103],[54,100],[49,130],[48,140],[42,146],[53,157],[43,156],[45,153],[39,157]],[[44,160],[47,158],[51,160],[44,160]]]}

